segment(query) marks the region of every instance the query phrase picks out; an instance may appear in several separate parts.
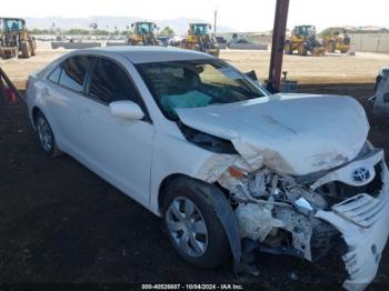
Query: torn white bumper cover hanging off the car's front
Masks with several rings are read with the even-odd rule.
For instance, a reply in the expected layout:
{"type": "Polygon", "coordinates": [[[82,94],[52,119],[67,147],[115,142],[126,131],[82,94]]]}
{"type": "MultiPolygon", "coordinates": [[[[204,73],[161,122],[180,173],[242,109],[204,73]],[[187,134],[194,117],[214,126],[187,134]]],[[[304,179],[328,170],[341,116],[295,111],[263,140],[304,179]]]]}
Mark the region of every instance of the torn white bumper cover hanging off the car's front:
{"type": "Polygon", "coordinates": [[[383,161],[382,181],[377,198],[361,193],[315,215],[337,228],[348,245],[342,257],[349,273],[343,283],[348,290],[362,290],[373,280],[388,240],[389,174],[383,161]]]}

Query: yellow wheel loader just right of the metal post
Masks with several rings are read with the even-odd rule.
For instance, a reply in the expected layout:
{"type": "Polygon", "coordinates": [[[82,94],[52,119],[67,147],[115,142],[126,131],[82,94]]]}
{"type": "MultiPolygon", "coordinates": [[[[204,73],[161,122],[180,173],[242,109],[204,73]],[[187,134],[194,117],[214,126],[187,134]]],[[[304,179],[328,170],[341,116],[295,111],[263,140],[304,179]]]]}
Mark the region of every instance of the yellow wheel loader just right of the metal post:
{"type": "Polygon", "coordinates": [[[295,50],[299,56],[322,56],[326,48],[319,41],[313,26],[297,26],[293,28],[291,36],[285,41],[283,47],[286,54],[292,54],[295,50]]]}

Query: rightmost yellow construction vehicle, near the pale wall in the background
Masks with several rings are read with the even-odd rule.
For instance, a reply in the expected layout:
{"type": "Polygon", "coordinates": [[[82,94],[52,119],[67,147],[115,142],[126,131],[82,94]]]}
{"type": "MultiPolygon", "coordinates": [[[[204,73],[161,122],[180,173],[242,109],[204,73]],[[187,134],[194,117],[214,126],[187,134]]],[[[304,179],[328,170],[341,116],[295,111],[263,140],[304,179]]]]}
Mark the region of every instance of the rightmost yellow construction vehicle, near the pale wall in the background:
{"type": "Polygon", "coordinates": [[[341,53],[347,53],[350,50],[350,38],[347,36],[345,28],[326,29],[321,38],[328,52],[339,50],[341,53]]]}

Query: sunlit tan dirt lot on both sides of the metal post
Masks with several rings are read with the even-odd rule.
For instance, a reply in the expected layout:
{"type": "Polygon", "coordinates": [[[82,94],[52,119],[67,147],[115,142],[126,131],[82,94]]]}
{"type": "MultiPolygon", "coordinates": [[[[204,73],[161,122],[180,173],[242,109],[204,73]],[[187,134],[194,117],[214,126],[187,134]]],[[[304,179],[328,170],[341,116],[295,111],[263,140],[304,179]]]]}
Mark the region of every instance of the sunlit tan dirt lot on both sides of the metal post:
{"type": "MultiPolygon", "coordinates": [[[[266,51],[222,51],[222,59],[231,61],[247,72],[256,70],[262,79],[268,78],[270,53],[266,51]]],[[[357,52],[355,57],[327,53],[323,57],[285,56],[282,70],[288,79],[299,83],[371,83],[377,72],[389,64],[389,54],[357,52]]]]}

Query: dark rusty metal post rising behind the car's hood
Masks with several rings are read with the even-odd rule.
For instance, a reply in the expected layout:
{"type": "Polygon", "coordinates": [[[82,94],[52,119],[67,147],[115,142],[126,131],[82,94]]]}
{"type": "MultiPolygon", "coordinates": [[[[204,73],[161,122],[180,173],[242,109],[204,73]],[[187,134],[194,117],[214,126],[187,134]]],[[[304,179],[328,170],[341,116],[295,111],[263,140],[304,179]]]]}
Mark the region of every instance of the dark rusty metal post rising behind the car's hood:
{"type": "Polygon", "coordinates": [[[277,0],[275,13],[275,27],[272,31],[271,57],[269,79],[267,88],[269,91],[278,91],[281,82],[282,57],[285,34],[287,30],[289,0],[277,0]]]}

